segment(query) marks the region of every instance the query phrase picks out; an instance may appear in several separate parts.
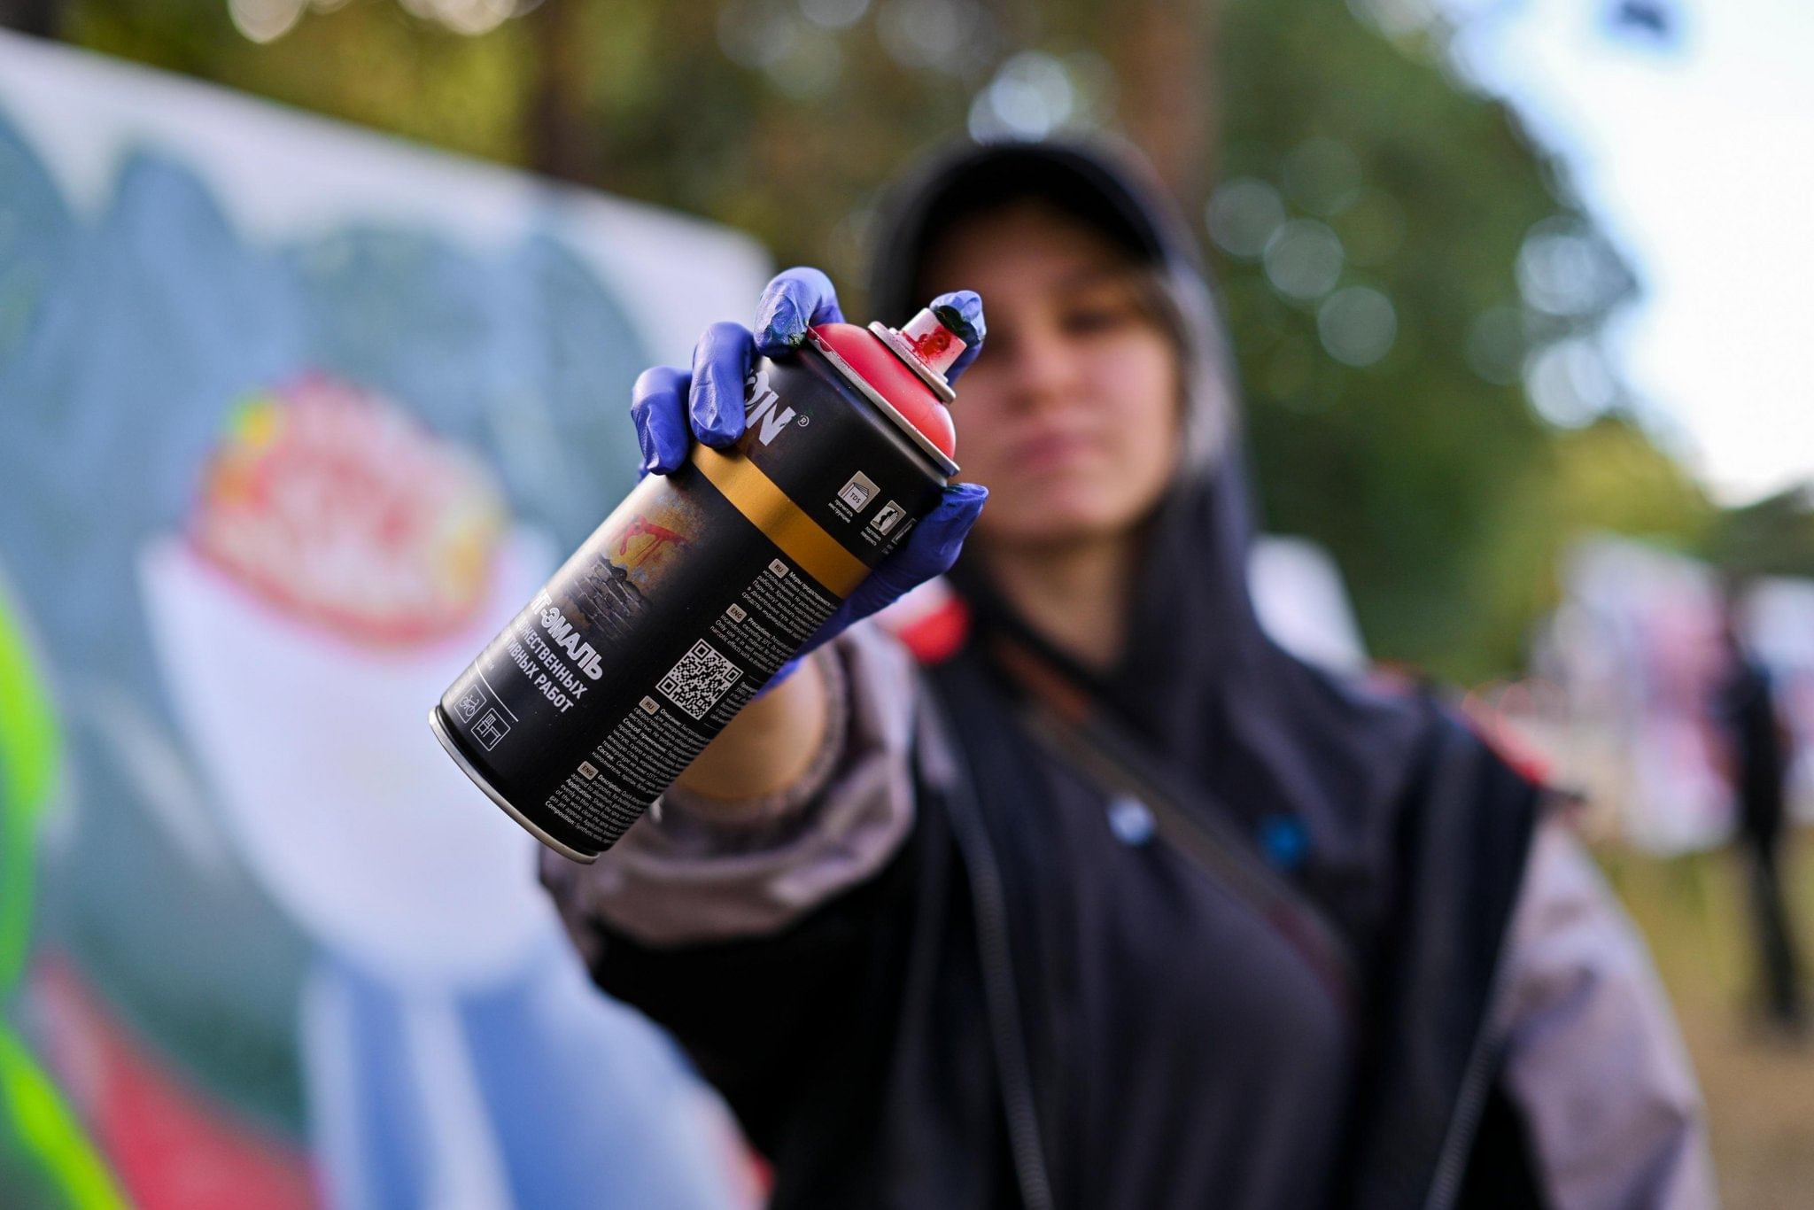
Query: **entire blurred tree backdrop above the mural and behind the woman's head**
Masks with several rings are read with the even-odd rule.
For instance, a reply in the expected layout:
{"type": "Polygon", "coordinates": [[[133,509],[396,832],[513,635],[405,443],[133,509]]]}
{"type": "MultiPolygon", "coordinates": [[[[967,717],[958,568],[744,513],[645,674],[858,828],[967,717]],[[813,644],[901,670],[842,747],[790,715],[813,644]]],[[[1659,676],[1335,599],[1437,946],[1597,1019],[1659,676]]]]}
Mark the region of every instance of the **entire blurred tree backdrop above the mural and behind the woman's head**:
{"type": "Polygon", "coordinates": [[[1633,274],[1417,5],[65,4],[112,54],[733,223],[825,265],[853,314],[876,185],[912,152],[1117,129],[1214,238],[1268,526],[1335,553],[1377,655],[1444,677],[1513,666],[1547,526],[1702,524],[1680,475],[1654,506],[1642,426],[1558,428],[1629,405],[1598,330],[1633,274]],[[1600,446],[1643,473],[1589,492],[1600,446]]]}

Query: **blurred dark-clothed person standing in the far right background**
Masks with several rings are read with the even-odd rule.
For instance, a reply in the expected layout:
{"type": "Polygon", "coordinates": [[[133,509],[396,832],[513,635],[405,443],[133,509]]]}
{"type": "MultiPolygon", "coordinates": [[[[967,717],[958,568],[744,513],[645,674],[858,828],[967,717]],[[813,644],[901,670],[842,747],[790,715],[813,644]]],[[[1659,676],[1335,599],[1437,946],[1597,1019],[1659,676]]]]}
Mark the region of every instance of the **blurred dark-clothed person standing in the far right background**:
{"type": "Polygon", "coordinates": [[[1758,940],[1758,1005],[1765,1025],[1781,1038],[1801,1038],[1801,963],[1783,900],[1783,829],[1789,824],[1787,780],[1792,756],[1789,727],[1776,709],[1770,675],[1740,635],[1738,593],[1729,588],[1721,619],[1727,677],[1714,715],[1732,760],[1738,805],[1736,838],[1745,858],[1751,912],[1758,940]]]}

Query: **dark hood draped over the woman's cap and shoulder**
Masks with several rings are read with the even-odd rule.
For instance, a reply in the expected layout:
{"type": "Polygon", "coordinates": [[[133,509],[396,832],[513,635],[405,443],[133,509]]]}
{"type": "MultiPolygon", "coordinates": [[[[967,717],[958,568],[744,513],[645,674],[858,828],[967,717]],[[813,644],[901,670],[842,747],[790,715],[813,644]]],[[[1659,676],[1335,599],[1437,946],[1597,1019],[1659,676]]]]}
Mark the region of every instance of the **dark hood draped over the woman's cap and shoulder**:
{"type": "MultiPolygon", "coordinates": [[[[1390,795],[1400,778],[1391,751],[1409,740],[1402,713],[1379,715],[1371,697],[1351,702],[1281,651],[1253,611],[1253,524],[1234,357],[1197,243],[1132,149],[983,143],[931,158],[883,203],[871,278],[874,314],[900,321],[912,312],[923,259],[940,232],[1025,198],[1054,205],[1159,267],[1183,343],[1185,448],[1146,526],[1134,617],[1114,669],[1094,675],[1043,644],[990,588],[980,561],[967,557],[952,582],[978,633],[1001,626],[1039,646],[1097,702],[1257,824],[1281,813],[1319,815],[1326,787],[1306,780],[1342,784],[1350,793],[1371,784],[1390,795]],[[1362,722],[1351,717],[1355,709],[1366,715],[1364,726],[1355,726],[1362,722]],[[1380,727],[1395,737],[1384,749],[1380,727]],[[1317,749],[1308,764],[1304,744],[1317,749]]],[[[987,345],[981,356],[989,356],[987,345]]],[[[954,406],[961,463],[961,390],[954,406]]]]}

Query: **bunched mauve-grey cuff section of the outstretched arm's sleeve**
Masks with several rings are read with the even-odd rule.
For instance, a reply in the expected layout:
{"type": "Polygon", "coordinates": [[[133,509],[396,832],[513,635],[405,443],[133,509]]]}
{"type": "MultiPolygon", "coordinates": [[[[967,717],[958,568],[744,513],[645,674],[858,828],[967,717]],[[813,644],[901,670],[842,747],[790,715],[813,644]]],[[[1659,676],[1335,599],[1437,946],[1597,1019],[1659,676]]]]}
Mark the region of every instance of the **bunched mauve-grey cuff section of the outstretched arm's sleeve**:
{"type": "Polygon", "coordinates": [[[825,677],[833,722],[800,784],[755,802],[669,791],[595,864],[542,854],[542,882],[588,960],[599,925],[649,947],[775,934],[900,849],[914,816],[912,657],[854,626],[807,673],[825,677]]]}

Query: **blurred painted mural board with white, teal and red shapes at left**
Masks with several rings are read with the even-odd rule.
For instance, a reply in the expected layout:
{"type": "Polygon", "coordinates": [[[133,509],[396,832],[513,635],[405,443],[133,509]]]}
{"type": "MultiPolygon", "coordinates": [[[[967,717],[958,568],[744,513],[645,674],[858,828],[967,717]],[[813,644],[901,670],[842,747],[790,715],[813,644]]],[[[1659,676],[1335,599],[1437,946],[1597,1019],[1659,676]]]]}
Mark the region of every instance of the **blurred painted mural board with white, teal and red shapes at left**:
{"type": "Polygon", "coordinates": [[[0,34],[0,1203],[749,1199],[424,718],[764,270],[0,34]]]}

